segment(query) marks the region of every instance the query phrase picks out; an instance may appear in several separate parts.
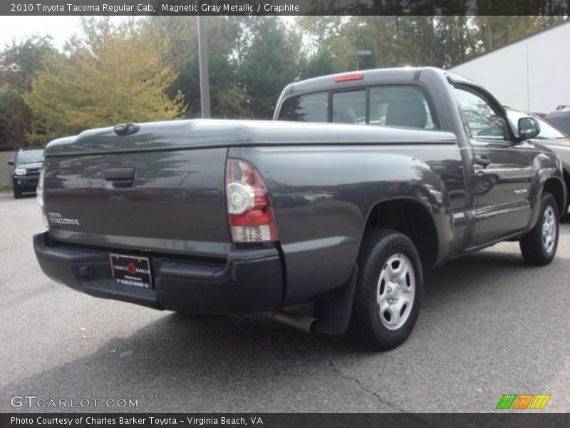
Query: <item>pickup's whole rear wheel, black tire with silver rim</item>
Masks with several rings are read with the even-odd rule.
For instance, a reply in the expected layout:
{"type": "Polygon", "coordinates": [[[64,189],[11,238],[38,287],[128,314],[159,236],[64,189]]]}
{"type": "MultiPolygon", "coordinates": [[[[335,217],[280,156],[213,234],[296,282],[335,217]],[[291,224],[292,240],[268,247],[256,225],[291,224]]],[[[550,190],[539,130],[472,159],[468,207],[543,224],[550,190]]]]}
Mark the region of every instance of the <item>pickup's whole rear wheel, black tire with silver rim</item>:
{"type": "Polygon", "coordinates": [[[422,292],[412,241],[396,230],[369,230],[358,257],[351,330],[371,350],[397,347],[418,319],[422,292]]]}

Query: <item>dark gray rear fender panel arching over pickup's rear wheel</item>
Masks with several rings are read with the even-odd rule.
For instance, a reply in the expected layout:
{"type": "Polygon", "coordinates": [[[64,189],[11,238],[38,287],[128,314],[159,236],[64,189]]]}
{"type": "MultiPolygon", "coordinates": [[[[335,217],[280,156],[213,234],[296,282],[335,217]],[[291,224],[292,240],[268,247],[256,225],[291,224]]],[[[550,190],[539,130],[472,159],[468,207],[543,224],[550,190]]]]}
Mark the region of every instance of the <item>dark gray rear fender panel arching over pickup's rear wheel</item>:
{"type": "MultiPolygon", "coordinates": [[[[229,149],[228,156],[255,165],[269,190],[286,265],[285,305],[314,300],[349,283],[368,215],[385,200],[410,199],[425,207],[438,242],[445,243],[437,260],[449,252],[452,222],[445,186],[430,165],[408,155],[409,148],[229,149]]],[[[429,148],[432,158],[459,156],[455,145],[429,148]]],[[[427,150],[418,148],[418,153],[427,150]]]]}

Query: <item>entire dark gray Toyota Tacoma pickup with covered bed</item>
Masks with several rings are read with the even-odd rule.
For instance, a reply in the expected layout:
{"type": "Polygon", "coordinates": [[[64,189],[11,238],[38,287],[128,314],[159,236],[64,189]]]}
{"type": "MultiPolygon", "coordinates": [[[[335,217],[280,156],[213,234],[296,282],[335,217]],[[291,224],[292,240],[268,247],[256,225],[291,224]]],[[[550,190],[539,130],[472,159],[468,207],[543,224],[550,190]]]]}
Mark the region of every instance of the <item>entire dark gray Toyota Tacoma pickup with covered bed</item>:
{"type": "Polygon", "coordinates": [[[314,78],[284,89],[275,119],[126,123],[52,141],[38,188],[48,231],[33,238],[43,272],[163,310],[268,312],[331,334],[350,322],[383,350],[415,324],[423,268],[502,240],[519,240],[532,265],[554,258],[559,158],[529,141],[534,119],[515,134],[465,78],[314,78]],[[303,302],[314,317],[281,310],[303,302]]]}

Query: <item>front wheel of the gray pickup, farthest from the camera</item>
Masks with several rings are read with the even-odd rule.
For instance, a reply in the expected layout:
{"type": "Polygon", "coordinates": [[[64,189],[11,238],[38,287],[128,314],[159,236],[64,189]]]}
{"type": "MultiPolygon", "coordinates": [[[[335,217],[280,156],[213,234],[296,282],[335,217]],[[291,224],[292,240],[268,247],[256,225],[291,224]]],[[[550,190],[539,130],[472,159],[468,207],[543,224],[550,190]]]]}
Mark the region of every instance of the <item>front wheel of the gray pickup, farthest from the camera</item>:
{"type": "Polygon", "coordinates": [[[556,204],[556,199],[550,193],[545,192],[542,195],[542,200],[540,204],[539,218],[537,224],[534,228],[530,230],[527,235],[524,235],[520,240],[520,248],[522,257],[524,261],[529,265],[544,266],[548,265],[556,255],[556,248],[558,247],[558,236],[559,236],[559,215],[558,215],[558,205],[556,204]],[[550,217],[553,217],[554,230],[554,243],[549,247],[543,240],[543,226],[545,221],[545,213],[550,210],[550,217]]]}

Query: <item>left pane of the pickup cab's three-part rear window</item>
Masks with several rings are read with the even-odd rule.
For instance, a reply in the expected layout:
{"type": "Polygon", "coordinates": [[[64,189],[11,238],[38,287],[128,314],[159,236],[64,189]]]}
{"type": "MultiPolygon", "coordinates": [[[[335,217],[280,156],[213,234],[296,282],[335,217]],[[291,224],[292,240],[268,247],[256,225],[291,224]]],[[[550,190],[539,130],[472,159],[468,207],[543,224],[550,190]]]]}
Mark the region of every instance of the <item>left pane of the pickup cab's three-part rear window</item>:
{"type": "Polygon", "coordinates": [[[279,111],[280,121],[326,122],[328,93],[309,93],[286,100],[279,111]]]}

